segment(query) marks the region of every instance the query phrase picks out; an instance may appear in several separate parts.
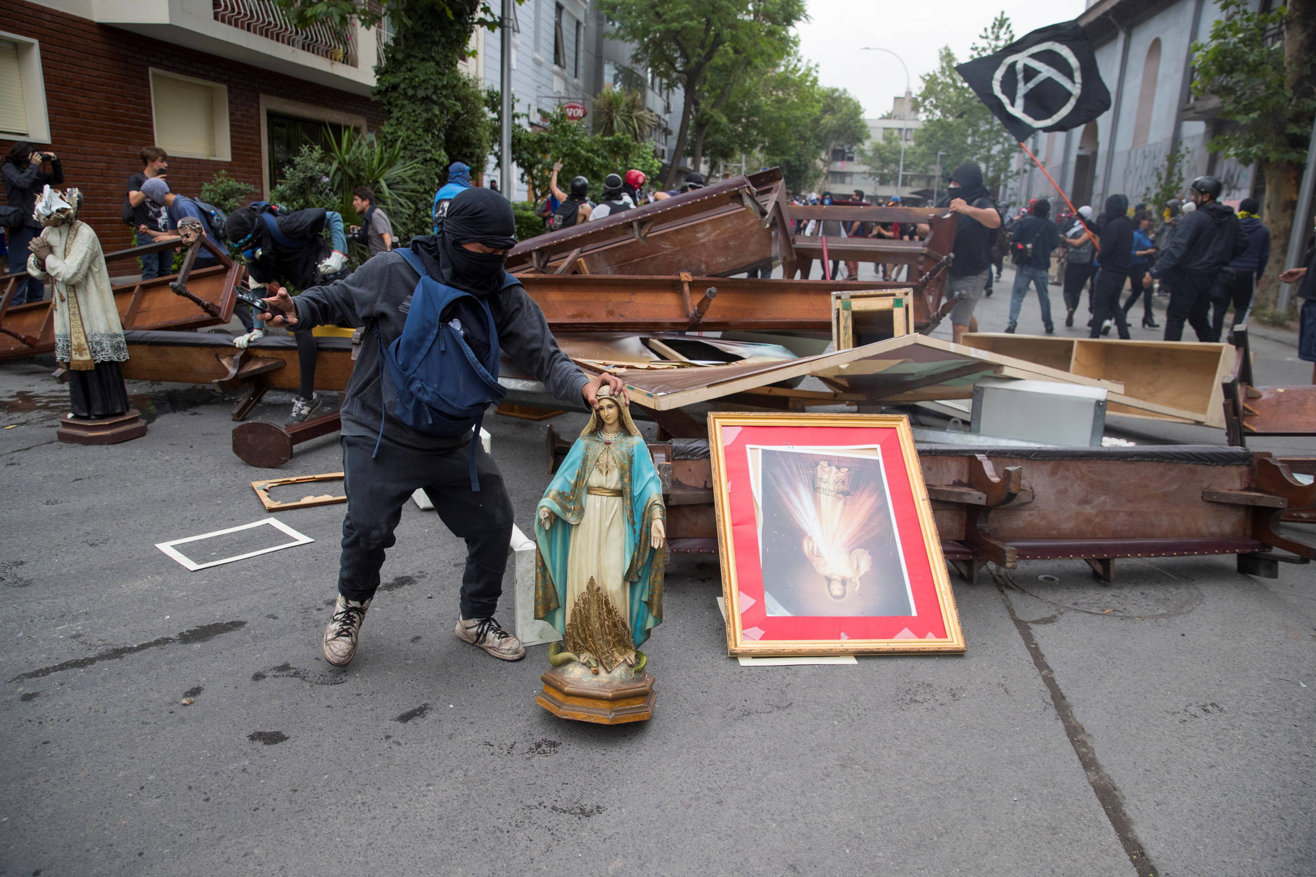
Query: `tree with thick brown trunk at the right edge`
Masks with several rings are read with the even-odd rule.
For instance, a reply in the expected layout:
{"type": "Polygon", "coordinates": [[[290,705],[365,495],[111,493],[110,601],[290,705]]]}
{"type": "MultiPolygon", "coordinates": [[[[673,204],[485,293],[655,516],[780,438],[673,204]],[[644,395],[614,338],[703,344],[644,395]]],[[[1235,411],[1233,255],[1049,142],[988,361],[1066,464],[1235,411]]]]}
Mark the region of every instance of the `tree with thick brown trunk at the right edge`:
{"type": "MultiPolygon", "coordinates": [[[[1253,12],[1241,0],[1221,0],[1224,13],[1205,42],[1192,45],[1199,97],[1220,100],[1221,117],[1234,122],[1208,147],[1242,164],[1259,164],[1266,179],[1265,221],[1277,247],[1287,249],[1298,187],[1316,116],[1316,1],[1253,12]]],[[[1280,250],[1282,251],[1282,250],[1280,250]]],[[[1257,297],[1274,305],[1282,258],[1271,259],[1257,297]]]]}

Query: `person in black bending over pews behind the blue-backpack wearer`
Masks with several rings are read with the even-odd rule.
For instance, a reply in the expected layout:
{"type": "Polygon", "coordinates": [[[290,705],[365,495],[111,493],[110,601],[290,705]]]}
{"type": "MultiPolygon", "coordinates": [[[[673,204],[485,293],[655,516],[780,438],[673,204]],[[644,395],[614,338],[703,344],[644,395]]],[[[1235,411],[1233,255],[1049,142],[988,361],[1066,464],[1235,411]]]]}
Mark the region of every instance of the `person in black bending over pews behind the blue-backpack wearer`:
{"type": "MultiPolygon", "coordinates": [[[[342,216],[333,210],[307,208],[280,214],[245,206],[229,216],[224,231],[229,246],[241,250],[246,258],[253,291],[266,287],[275,291],[280,284],[309,289],[340,276],[347,267],[347,235],[342,216]],[[330,241],[324,238],[326,229],[330,241]]],[[[243,305],[238,318],[245,317],[245,312],[243,305]]],[[[233,344],[245,348],[263,334],[258,329],[249,331],[236,338],[233,344]]],[[[299,334],[296,339],[300,376],[297,397],[292,400],[288,415],[290,426],[305,421],[322,404],[316,396],[316,339],[311,333],[299,334]]]]}

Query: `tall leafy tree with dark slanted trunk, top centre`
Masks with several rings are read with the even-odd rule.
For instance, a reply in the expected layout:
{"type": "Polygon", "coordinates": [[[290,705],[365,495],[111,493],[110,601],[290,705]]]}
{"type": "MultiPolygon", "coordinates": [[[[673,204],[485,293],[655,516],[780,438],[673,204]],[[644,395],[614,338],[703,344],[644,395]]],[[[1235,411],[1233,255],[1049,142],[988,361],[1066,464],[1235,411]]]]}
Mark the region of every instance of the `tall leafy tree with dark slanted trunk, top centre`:
{"type": "Polygon", "coordinates": [[[804,0],[600,0],[600,9],[616,36],[636,46],[637,63],[684,92],[667,185],[676,180],[696,109],[716,104],[726,85],[709,76],[715,60],[724,53],[758,57],[765,41],[788,37],[805,17],[804,0]]]}

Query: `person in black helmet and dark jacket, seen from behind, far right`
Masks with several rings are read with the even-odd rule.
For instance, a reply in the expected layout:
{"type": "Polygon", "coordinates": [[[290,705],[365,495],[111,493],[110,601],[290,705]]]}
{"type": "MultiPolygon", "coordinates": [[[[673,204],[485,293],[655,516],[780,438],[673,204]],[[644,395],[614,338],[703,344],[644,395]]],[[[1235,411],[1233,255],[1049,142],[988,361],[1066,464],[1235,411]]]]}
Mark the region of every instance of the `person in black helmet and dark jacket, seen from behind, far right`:
{"type": "Polygon", "coordinates": [[[1165,339],[1180,341],[1187,321],[1198,341],[1216,341],[1211,326],[1211,298],[1217,283],[1228,281],[1229,263],[1248,249],[1248,237],[1233,208],[1220,202],[1224,185],[1213,176],[1199,176],[1190,185],[1196,206],[1179,222],[1174,241],[1161,252],[1152,276],[1170,279],[1170,305],[1165,316],[1165,339]]]}

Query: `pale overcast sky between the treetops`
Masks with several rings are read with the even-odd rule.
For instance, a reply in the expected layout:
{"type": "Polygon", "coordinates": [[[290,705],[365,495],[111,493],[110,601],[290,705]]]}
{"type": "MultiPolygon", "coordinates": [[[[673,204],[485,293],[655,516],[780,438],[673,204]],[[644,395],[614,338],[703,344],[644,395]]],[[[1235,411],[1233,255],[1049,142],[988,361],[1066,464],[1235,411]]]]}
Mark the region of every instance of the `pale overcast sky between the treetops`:
{"type": "Polygon", "coordinates": [[[861,46],[900,55],[909,67],[909,88],[917,95],[920,76],[937,66],[937,51],[950,46],[965,60],[969,46],[998,12],[1009,16],[1019,38],[1076,18],[1084,8],[1083,0],[809,0],[809,21],[796,30],[800,54],[817,64],[821,83],[849,89],[863,104],[863,114],[875,118],[904,93],[904,70],[887,53],[859,51],[861,46]]]}

